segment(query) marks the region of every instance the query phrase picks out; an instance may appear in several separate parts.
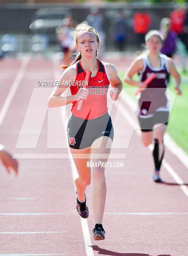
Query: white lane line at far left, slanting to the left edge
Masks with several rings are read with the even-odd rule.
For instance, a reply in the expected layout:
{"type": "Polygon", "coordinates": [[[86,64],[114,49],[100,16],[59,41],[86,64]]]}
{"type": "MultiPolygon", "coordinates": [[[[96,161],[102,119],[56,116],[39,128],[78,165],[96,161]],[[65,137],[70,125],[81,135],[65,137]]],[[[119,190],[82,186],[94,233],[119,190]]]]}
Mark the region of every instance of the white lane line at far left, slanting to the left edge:
{"type": "Polygon", "coordinates": [[[1,109],[1,112],[0,112],[0,125],[2,124],[2,121],[4,120],[6,112],[10,106],[10,103],[13,100],[14,94],[16,93],[16,90],[21,82],[21,79],[24,76],[26,66],[27,66],[29,60],[30,60],[30,56],[28,54],[26,54],[21,61],[20,69],[17,72],[17,76],[13,81],[13,85],[11,86],[11,89],[9,90],[9,94],[8,94],[8,96],[4,102],[4,105],[1,109]]]}

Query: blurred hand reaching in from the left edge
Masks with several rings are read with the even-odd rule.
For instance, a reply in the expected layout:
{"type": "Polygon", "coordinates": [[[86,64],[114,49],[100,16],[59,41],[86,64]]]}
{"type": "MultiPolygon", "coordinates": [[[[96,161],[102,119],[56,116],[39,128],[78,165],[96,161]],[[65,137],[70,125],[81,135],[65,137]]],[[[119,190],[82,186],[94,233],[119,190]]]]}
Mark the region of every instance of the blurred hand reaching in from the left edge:
{"type": "Polygon", "coordinates": [[[4,145],[0,144],[0,160],[2,161],[7,172],[13,169],[15,175],[18,175],[18,162],[13,156],[4,149],[4,145]]]}

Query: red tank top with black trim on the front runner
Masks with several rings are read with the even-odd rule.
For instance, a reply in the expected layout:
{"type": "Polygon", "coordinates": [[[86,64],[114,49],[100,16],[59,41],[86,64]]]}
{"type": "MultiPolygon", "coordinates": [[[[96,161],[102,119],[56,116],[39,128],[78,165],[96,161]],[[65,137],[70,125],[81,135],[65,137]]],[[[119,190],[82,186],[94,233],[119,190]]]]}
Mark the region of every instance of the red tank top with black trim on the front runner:
{"type": "MultiPolygon", "coordinates": [[[[75,81],[84,81],[86,72],[77,61],[77,76],[75,81]]],[[[107,113],[107,92],[110,78],[105,68],[105,64],[98,60],[98,71],[96,76],[90,77],[88,84],[89,94],[84,100],[81,111],[77,111],[78,101],[73,102],[71,112],[74,116],[82,119],[95,119],[107,113]]],[[[76,94],[81,89],[79,85],[70,86],[71,94],[76,94]]]]}

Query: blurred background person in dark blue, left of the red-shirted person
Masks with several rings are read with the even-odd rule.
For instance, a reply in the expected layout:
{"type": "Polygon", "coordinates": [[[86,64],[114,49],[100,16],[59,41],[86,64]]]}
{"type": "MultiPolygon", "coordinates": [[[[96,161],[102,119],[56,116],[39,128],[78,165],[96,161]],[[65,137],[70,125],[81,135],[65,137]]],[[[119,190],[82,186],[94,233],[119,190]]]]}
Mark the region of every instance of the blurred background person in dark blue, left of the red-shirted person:
{"type": "Polygon", "coordinates": [[[127,30],[128,24],[125,19],[124,13],[120,12],[114,24],[115,46],[120,52],[124,51],[125,49],[127,40],[127,30]]]}

